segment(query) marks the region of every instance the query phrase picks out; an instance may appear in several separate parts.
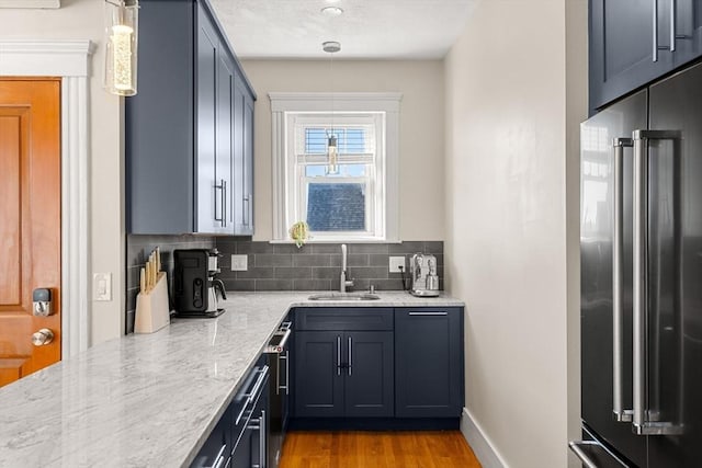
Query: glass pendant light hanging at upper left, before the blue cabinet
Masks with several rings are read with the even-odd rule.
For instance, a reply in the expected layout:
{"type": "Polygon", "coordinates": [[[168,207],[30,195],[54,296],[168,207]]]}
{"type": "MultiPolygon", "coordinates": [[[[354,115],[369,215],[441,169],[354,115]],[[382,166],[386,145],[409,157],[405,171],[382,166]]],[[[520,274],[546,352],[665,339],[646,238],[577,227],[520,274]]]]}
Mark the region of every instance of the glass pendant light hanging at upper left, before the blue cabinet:
{"type": "Polygon", "coordinates": [[[136,94],[138,0],[104,0],[105,77],[107,92],[136,94]]]}

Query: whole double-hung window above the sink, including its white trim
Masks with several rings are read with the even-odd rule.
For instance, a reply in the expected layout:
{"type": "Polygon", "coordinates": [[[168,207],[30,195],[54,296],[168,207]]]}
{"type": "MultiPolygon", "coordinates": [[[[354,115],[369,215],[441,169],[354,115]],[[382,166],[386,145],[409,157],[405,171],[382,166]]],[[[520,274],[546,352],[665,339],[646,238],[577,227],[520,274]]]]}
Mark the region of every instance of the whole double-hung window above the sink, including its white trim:
{"type": "Polygon", "coordinates": [[[397,113],[355,101],[344,110],[343,100],[335,113],[299,102],[276,113],[271,101],[274,240],[287,240],[297,221],[307,222],[313,242],[395,240],[397,113]],[[330,158],[332,136],[337,155],[330,158]]]}

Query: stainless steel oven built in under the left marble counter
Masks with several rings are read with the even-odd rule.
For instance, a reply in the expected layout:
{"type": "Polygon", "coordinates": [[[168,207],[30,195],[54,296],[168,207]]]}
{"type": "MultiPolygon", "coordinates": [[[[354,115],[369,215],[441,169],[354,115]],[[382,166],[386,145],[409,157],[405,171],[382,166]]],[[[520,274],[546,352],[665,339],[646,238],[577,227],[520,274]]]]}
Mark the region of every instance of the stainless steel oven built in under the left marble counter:
{"type": "Polygon", "coordinates": [[[284,321],[273,333],[265,349],[268,365],[271,369],[269,390],[270,436],[268,449],[268,467],[278,468],[281,450],[287,427],[287,408],[290,399],[290,338],[293,322],[284,321]]]}

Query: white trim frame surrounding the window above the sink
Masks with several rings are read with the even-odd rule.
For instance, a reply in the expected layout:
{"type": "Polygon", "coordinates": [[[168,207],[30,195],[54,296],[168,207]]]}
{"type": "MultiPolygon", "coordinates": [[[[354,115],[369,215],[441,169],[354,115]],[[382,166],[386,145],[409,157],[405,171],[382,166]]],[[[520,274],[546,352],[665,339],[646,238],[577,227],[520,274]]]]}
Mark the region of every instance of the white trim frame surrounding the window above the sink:
{"type": "MultiPolygon", "coordinates": [[[[399,103],[401,93],[269,93],[271,100],[271,130],[273,158],[273,242],[292,242],[287,235],[285,214],[287,192],[285,178],[286,113],[329,112],[333,99],[335,112],[385,113],[385,238],[369,242],[397,242],[399,240],[399,103]]],[[[293,201],[294,203],[294,201],[293,201]]],[[[339,242],[348,239],[329,239],[339,242]]],[[[352,239],[354,242],[363,240],[352,239]]],[[[310,242],[315,242],[314,239],[310,242]]]]}

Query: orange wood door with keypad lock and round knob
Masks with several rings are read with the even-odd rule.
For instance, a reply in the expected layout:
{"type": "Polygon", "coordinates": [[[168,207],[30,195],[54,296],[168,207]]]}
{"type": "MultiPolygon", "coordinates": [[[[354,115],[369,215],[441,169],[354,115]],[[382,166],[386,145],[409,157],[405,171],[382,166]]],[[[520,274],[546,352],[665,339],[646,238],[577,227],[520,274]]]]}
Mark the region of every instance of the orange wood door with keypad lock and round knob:
{"type": "Polygon", "coordinates": [[[0,386],[61,357],[60,263],[60,80],[0,79],[0,386]],[[35,346],[39,329],[54,339],[35,346]]]}

